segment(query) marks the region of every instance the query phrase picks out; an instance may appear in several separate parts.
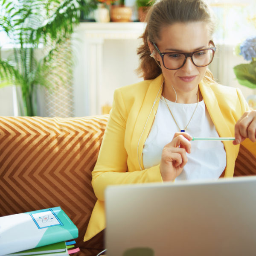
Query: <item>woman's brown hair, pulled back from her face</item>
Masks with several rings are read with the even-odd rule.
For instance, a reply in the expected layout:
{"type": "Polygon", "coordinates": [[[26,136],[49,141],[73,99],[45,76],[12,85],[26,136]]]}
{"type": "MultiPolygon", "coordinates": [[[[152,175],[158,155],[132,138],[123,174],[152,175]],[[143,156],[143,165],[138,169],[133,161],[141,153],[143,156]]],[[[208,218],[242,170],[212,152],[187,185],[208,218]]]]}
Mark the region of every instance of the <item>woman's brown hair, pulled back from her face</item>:
{"type": "MultiPolygon", "coordinates": [[[[148,11],[145,22],[147,26],[143,35],[143,45],[137,49],[140,56],[140,66],[137,73],[145,80],[154,79],[162,73],[154,58],[152,58],[148,41],[156,43],[160,40],[161,29],[174,23],[204,21],[212,36],[215,22],[209,6],[204,0],[159,0],[148,11]]],[[[212,73],[207,69],[204,79],[212,81],[212,73]]]]}

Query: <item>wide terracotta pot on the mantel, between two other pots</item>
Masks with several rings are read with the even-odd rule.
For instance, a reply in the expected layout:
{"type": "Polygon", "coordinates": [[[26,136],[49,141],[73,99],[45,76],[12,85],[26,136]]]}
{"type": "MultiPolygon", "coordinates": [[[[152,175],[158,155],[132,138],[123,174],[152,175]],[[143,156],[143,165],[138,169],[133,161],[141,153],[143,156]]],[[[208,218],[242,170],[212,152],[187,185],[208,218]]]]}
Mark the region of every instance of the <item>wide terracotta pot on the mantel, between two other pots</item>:
{"type": "Polygon", "coordinates": [[[128,6],[111,6],[110,18],[114,22],[128,22],[131,21],[132,10],[128,6]]]}

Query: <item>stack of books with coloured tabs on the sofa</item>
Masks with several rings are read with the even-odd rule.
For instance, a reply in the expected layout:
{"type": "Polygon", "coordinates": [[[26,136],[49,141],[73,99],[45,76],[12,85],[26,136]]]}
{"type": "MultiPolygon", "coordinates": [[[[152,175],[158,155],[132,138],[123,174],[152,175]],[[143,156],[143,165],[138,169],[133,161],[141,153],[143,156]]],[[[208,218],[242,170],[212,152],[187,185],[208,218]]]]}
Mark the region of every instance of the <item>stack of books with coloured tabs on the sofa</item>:
{"type": "Polygon", "coordinates": [[[0,256],[69,256],[77,237],[61,207],[0,217],[0,256]]]}

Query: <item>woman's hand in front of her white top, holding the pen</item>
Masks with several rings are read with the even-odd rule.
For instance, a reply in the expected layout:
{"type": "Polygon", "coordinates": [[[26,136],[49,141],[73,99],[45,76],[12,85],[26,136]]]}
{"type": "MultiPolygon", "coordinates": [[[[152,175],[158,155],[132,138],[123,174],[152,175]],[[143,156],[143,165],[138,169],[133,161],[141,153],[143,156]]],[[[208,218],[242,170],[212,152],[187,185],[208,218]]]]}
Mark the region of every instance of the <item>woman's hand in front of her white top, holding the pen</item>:
{"type": "Polygon", "coordinates": [[[175,180],[180,175],[188,161],[186,152],[191,152],[190,140],[192,139],[185,132],[176,132],[172,141],[164,146],[160,162],[163,181],[175,180]]]}

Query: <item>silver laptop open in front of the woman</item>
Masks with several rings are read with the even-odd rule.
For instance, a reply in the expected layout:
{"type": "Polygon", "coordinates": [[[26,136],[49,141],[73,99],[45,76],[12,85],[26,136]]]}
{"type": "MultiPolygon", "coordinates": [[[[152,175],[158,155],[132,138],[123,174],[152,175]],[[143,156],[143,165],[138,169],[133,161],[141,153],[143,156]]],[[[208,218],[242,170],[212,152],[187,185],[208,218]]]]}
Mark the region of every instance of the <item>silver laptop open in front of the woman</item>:
{"type": "Polygon", "coordinates": [[[255,256],[256,176],[109,186],[108,256],[255,256]]]}

